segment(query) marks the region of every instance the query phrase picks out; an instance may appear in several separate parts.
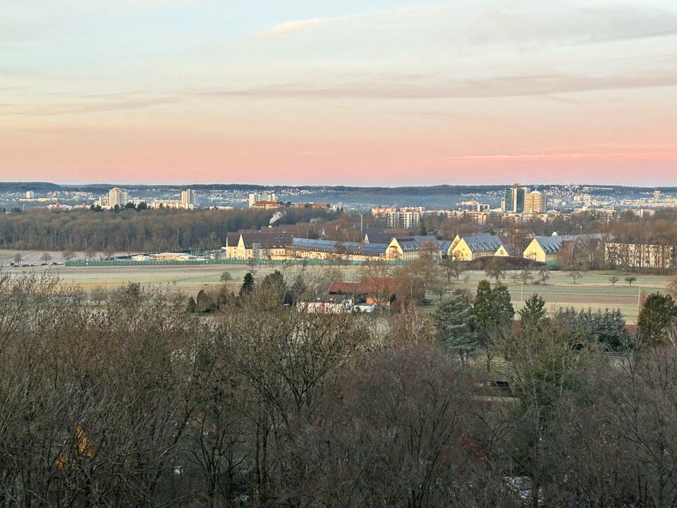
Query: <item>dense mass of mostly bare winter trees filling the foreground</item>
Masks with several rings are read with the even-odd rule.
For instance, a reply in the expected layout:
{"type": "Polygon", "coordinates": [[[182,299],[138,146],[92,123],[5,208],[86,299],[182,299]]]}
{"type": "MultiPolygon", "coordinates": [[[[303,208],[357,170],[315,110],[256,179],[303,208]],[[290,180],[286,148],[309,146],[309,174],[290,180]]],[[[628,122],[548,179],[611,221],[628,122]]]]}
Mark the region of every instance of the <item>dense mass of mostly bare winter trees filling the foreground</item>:
{"type": "Polygon", "coordinates": [[[537,299],[504,326],[504,291],[486,284],[452,298],[460,322],[449,301],[434,318],[305,313],[272,286],[205,317],[135,284],[92,303],[49,277],[0,277],[1,504],[677,502],[670,341],[612,364],[537,299]],[[470,322],[462,363],[450,339],[470,322]]]}

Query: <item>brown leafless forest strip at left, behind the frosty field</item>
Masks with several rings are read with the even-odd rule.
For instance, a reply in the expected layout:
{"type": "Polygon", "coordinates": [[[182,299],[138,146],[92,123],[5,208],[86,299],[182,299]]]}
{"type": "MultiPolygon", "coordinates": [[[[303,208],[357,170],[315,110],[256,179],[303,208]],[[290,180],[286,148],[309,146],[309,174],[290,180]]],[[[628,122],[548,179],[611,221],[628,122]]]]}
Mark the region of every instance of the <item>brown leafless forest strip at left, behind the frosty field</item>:
{"type": "MultiPolygon", "coordinates": [[[[90,253],[161,252],[219,248],[226,233],[267,226],[266,210],[35,210],[0,214],[0,248],[75,250],[90,253]]],[[[334,214],[290,209],[276,224],[331,219],[334,214]]]]}

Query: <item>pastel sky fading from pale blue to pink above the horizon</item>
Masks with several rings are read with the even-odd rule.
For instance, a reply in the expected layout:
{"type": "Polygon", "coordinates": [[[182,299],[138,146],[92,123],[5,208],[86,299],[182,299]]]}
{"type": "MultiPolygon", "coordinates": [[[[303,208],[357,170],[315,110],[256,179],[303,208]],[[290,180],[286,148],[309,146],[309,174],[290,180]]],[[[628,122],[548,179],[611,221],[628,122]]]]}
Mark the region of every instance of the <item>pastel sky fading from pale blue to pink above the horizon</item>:
{"type": "Polygon", "coordinates": [[[0,180],[677,185],[677,1],[0,0],[0,180]]]}

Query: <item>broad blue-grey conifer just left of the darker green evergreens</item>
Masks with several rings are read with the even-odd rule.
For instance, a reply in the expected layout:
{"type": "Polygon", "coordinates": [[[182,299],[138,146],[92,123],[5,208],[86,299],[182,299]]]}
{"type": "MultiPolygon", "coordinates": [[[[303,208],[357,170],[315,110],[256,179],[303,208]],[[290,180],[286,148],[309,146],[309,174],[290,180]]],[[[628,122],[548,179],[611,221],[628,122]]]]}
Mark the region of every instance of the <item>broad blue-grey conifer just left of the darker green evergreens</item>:
{"type": "Polygon", "coordinates": [[[458,353],[463,365],[477,349],[477,334],[472,329],[472,308],[460,296],[439,301],[433,313],[437,339],[458,353]]]}

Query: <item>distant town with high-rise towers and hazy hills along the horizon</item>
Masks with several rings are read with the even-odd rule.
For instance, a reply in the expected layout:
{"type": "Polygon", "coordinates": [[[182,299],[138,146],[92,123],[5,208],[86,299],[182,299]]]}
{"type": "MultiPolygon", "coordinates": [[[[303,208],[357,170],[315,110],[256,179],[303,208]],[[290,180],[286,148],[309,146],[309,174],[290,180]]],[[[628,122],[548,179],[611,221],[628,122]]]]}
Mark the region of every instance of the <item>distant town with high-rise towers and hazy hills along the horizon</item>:
{"type": "Polygon", "coordinates": [[[554,214],[596,212],[614,215],[632,210],[643,216],[677,206],[677,188],[623,186],[435,186],[369,188],[343,186],[195,185],[60,186],[52,183],[0,183],[0,206],[6,211],[35,207],[76,210],[100,207],[256,208],[315,207],[367,212],[389,217],[389,224],[408,226],[416,214],[467,215],[480,224],[497,214],[516,220],[554,214]]]}

